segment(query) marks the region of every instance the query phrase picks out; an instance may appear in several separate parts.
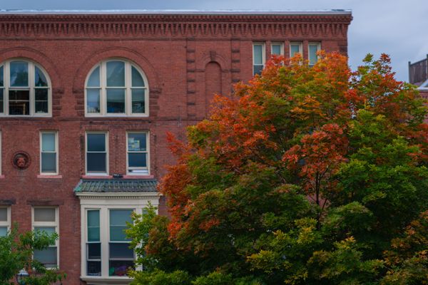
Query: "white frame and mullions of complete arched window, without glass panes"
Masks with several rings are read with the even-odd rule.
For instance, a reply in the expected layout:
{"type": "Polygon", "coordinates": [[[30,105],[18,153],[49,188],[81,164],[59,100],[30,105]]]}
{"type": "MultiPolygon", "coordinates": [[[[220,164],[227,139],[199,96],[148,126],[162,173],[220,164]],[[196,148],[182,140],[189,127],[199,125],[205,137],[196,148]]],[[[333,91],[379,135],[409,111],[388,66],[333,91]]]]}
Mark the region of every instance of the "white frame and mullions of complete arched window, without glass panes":
{"type": "MultiPolygon", "coordinates": [[[[117,87],[123,88],[123,86],[117,87]]],[[[148,117],[149,115],[149,86],[146,74],[143,70],[137,66],[135,63],[131,61],[127,61],[123,58],[109,58],[106,61],[101,61],[91,68],[88,76],[86,76],[85,80],[85,117],[148,117]],[[107,113],[107,92],[108,88],[115,88],[112,86],[107,87],[106,82],[106,73],[107,73],[107,63],[109,61],[122,61],[125,63],[125,113],[107,113]],[[100,87],[88,87],[88,80],[91,76],[92,72],[96,70],[96,68],[100,68],[100,87]],[[141,74],[141,77],[144,81],[144,87],[132,87],[132,67],[136,68],[136,70],[141,74]],[[144,89],[144,110],[145,113],[132,113],[132,89],[144,89]],[[88,113],[87,108],[87,89],[100,89],[100,113],[88,113]]]]}

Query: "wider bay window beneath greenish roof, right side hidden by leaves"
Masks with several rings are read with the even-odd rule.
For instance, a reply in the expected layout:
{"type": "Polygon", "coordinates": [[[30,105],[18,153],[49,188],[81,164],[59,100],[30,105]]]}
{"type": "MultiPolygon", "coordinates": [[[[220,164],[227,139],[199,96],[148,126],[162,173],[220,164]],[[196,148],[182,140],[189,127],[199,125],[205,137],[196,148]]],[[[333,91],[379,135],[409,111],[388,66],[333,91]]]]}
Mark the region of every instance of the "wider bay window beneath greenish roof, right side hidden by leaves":
{"type": "Polygon", "coordinates": [[[134,266],[134,252],[124,232],[131,223],[133,209],[109,209],[108,275],[126,276],[134,266]]]}

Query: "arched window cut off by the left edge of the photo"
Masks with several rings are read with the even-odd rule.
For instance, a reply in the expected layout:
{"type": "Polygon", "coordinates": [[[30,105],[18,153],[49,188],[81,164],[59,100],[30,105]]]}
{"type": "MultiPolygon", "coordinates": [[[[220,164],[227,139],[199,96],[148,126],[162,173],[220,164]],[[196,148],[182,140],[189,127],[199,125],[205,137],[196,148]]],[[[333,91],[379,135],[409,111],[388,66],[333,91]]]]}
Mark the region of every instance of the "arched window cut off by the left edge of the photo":
{"type": "Polygon", "coordinates": [[[50,116],[51,81],[41,66],[24,59],[0,64],[0,116],[50,116]]]}

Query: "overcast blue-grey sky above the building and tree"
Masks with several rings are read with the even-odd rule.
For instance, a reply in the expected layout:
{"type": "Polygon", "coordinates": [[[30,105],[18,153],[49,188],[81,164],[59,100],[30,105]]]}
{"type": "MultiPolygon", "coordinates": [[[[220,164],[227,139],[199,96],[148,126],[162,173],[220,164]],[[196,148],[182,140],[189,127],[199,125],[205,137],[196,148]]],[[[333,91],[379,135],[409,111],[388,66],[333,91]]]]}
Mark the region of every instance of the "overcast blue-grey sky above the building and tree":
{"type": "Polygon", "coordinates": [[[428,53],[428,0],[0,0],[0,9],[351,9],[352,68],[366,53],[387,53],[408,81],[408,61],[428,53]]]}

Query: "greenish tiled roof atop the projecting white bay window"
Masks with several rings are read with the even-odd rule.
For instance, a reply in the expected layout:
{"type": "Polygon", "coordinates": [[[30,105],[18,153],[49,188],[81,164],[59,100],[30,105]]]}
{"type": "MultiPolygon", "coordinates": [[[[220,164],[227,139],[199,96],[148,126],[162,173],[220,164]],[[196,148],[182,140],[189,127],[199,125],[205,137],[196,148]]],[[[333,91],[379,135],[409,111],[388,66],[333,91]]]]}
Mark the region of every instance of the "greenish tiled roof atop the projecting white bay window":
{"type": "Polygon", "coordinates": [[[117,192],[158,192],[158,181],[139,179],[113,179],[113,180],[81,180],[74,192],[90,193],[117,193],[117,192]]]}

